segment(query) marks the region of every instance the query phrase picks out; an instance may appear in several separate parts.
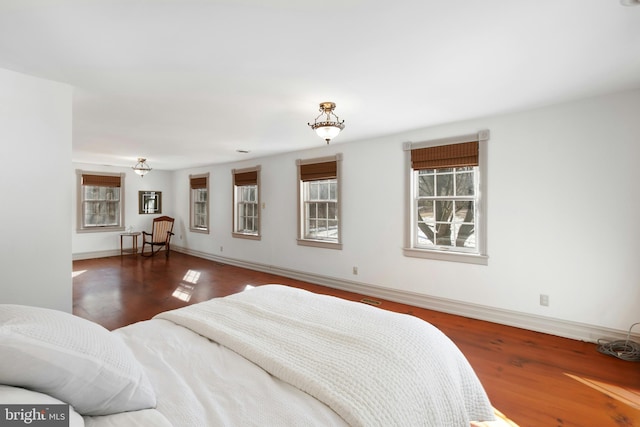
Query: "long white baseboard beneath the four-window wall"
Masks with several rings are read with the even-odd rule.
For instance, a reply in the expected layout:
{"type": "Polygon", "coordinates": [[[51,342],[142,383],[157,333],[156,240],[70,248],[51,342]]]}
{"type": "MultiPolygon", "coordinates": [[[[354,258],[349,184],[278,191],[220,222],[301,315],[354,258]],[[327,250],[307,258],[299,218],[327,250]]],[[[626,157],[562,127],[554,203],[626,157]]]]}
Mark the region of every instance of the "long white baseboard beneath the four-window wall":
{"type": "MultiPolygon", "coordinates": [[[[323,276],[319,274],[307,273],[299,270],[277,267],[273,265],[255,263],[222,257],[181,246],[171,246],[172,250],[182,252],[199,258],[220,262],[222,264],[234,265],[247,268],[249,270],[262,271],[265,273],[277,274],[291,279],[301,280],[317,285],[324,285],[335,289],[355,292],[371,297],[381,298],[388,301],[409,304],[443,313],[455,314],[472,319],[484,320],[501,325],[513,326],[530,331],[542,332],[564,338],[571,338],[579,341],[597,342],[599,339],[623,340],[627,338],[628,331],[603,328],[579,322],[572,322],[563,319],[537,316],[533,314],[521,313],[511,310],[503,310],[494,307],[487,307],[479,304],[471,304],[461,301],[449,300],[446,298],[432,297],[429,295],[414,292],[389,289],[378,285],[354,282],[350,280],[338,279],[335,277],[323,276]]],[[[632,334],[632,339],[640,339],[640,335],[632,334]]]]}

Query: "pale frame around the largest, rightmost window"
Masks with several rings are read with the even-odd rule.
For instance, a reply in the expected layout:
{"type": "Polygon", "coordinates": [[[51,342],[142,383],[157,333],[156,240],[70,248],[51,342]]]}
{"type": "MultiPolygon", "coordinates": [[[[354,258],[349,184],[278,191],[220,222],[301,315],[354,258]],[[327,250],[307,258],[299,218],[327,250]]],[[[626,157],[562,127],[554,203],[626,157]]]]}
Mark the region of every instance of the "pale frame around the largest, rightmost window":
{"type": "MultiPolygon", "coordinates": [[[[487,253],[487,146],[490,137],[489,130],[481,130],[477,133],[454,136],[449,138],[434,139],[419,143],[406,142],[403,144],[405,151],[405,177],[406,177],[406,218],[405,218],[405,245],[403,254],[407,257],[425,258],[441,261],[453,261],[469,264],[488,264],[487,253]],[[478,141],[478,172],[475,195],[475,230],[476,250],[456,251],[455,247],[423,248],[417,247],[417,212],[415,209],[416,185],[414,170],[411,167],[411,150],[442,145],[461,144],[478,141]]],[[[436,168],[437,169],[437,168],[436,168]]]]}

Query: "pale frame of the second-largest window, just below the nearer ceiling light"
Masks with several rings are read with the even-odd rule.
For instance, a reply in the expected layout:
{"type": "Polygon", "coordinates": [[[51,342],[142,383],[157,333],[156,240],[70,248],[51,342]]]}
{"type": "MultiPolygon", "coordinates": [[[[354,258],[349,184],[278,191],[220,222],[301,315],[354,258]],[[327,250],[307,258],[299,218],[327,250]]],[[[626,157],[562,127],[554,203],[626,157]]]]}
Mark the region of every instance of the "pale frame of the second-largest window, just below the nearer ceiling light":
{"type": "MultiPolygon", "coordinates": [[[[333,156],[327,156],[327,157],[317,157],[317,158],[313,158],[313,159],[298,159],[296,160],[296,166],[297,166],[297,195],[298,195],[298,208],[297,208],[297,212],[298,212],[298,237],[297,237],[297,243],[298,245],[301,246],[311,246],[311,247],[317,247],[317,248],[325,248],[325,249],[337,249],[337,250],[341,250],[342,249],[342,201],[341,201],[341,197],[342,197],[342,179],[341,179],[341,175],[342,175],[342,154],[338,153],[335,154],[333,156]],[[305,181],[302,180],[302,176],[301,176],[301,166],[303,165],[310,165],[310,164],[315,164],[315,163],[327,163],[327,162],[336,162],[336,216],[337,216],[337,221],[338,221],[338,237],[336,239],[336,241],[331,241],[331,240],[321,240],[321,239],[309,239],[305,237],[305,223],[306,223],[306,209],[305,209],[305,205],[306,205],[306,200],[304,199],[304,183],[305,181]]],[[[325,180],[326,178],[323,179],[318,179],[318,181],[322,181],[325,180]]]]}

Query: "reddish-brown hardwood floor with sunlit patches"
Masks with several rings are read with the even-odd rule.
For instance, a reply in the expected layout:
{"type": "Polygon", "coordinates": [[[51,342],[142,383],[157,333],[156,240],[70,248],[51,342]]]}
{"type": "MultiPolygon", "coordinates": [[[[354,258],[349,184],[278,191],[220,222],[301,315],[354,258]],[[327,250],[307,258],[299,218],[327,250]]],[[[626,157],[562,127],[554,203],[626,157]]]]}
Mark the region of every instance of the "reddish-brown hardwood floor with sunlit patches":
{"type": "MultiPolygon", "coordinates": [[[[280,283],[359,301],[365,295],[246,270],[178,252],[73,263],[74,314],[108,329],[229,295],[247,285],[280,283]]],[[[590,343],[381,301],[381,309],[424,319],[462,350],[494,407],[521,427],[640,427],[640,363],[590,343]]]]}

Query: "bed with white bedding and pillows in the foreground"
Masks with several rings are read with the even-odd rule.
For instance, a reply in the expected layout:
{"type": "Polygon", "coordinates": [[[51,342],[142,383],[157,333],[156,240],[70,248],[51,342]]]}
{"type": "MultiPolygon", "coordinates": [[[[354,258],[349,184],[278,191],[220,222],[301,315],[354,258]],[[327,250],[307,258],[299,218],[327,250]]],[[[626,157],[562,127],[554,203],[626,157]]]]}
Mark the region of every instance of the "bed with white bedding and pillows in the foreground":
{"type": "Polygon", "coordinates": [[[455,344],[416,317],[283,285],[112,332],[0,305],[0,404],[71,426],[464,426],[494,419],[455,344]]]}

